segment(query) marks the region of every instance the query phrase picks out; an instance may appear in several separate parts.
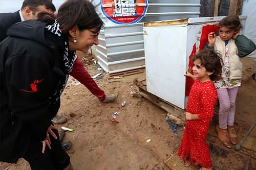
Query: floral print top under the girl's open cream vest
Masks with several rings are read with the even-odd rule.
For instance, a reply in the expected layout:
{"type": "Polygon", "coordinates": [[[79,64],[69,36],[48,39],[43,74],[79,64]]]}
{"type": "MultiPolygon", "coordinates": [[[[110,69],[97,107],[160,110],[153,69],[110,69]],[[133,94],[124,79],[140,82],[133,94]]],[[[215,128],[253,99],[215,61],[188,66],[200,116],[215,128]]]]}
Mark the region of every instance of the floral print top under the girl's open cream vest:
{"type": "Polygon", "coordinates": [[[228,56],[228,41],[225,41],[225,57],[224,57],[224,72],[225,77],[222,78],[222,80],[216,81],[215,86],[217,89],[221,88],[234,88],[241,86],[241,79],[229,79],[230,76],[230,67],[229,67],[229,56],[228,56]]]}

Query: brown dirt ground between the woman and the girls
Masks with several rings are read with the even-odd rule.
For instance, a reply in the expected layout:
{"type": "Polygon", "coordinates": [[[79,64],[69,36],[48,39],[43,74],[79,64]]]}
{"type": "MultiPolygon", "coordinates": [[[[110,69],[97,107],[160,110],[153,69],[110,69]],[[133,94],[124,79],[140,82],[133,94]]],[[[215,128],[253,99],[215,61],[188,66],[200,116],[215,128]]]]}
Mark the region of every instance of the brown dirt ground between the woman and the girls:
{"type": "MultiPolygon", "coordinates": [[[[90,56],[80,54],[79,59],[92,76],[100,72],[90,56]]],[[[246,58],[242,62],[244,78],[237,98],[236,121],[245,122],[248,129],[256,119],[256,81],[250,76],[256,72],[256,61],[246,58]]],[[[115,102],[100,103],[73,78],[61,96],[58,114],[68,118],[62,126],[74,129],[63,139],[73,143],[68,153],[74,169],[161,169],[162,162],[177,152],[183,132],[175,136],[165,122],[166,111],[145,98],[133,97],[136,75],[115,82],[103,75],[96,82],[106,94],[119,94],[115,102]],[[123,101],[126,105],[121,107],[123,101]],[[116,111],[120,113],[113,123],[111,113],[116,111]]],[[[60,129],[61,125],[57,127],[60,129]]],[[[252,135],[256,137],[256,133],[252,135]]],[[[2,162],[0,169],[30,167],[21,159],[17,164],[2,162]]]]}

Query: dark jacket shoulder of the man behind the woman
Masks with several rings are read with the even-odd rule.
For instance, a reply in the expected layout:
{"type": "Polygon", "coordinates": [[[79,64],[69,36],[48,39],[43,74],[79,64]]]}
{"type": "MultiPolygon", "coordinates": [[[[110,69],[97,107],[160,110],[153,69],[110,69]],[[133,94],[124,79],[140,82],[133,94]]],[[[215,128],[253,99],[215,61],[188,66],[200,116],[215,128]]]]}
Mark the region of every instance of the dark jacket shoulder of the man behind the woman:
{"type": "Polygon", "coordinates": [[[0,42],[7,37],[7,30],[14,23],[22,21],[20,19],[19,11],[13,13],[0,13],[0,42]]]}

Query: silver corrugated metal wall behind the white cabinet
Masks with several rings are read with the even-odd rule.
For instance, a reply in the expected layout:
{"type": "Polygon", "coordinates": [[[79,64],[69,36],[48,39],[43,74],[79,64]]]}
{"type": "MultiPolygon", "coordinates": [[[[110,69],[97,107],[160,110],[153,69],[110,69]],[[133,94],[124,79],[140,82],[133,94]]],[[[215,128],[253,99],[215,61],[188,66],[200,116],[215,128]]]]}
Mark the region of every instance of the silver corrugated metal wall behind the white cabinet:
{"type": "MultiPolygon", "coordinates": [[[[94,1],[101,10],[98,1],[94,1]]],[[[199,17],[200,0],[148,0],[146,15],[134,25],[116,25],[103,16],[96,56],[109,73],[142,68],[144,61],[143,22],[199,17]]]]}

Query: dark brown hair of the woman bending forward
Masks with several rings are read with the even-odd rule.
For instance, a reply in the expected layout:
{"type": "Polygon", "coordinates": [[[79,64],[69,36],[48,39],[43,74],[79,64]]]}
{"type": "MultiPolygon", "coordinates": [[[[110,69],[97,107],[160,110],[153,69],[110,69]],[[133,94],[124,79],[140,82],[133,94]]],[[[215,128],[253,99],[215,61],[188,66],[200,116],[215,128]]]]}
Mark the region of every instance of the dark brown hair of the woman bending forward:
{"type": "MultiPolygon", "coordinates": [[[[47,17],[45,15],[46,13],[38,14],[37,18],[48,23],[55,20],[54,15],[47,17]]],[[[74,26],[77,26],[80,31],[98,28],[97,32],[104,27],[95,7],[87,0],[66,1],[59,7],[57,21],[61,32],[68,36],[74,26]]]]}

